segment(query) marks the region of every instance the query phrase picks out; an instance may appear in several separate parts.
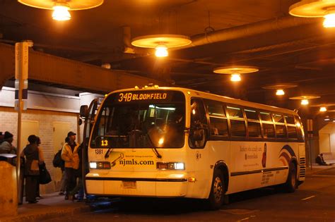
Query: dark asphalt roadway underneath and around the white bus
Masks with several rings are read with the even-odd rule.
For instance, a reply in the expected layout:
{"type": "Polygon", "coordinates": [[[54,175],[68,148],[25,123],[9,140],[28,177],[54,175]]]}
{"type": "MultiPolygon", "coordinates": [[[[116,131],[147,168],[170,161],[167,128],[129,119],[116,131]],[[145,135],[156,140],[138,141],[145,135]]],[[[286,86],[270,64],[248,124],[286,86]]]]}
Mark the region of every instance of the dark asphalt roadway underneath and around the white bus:
{"type": "Polygon", "coordinates": [[[259,189],[230,196],[219,211],[192,199],[114,199],[91,204],[44,195],[0,221],[335,221],[335,167],[313,166],[294,193],[259,189]]]}

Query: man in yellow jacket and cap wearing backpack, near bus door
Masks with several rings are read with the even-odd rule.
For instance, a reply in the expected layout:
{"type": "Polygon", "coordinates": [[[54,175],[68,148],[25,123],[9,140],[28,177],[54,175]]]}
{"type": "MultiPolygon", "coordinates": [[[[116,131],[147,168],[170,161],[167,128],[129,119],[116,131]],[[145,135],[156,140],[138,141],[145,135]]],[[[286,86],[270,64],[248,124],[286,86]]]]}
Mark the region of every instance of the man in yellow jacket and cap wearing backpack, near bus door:
{"type": "Polygon", "coordinates": [[[76,177],[74,172],[79,168],[79,144],[76,144],[76,133],[70,131],[68,132],[67,137],[69,138],[67,140],[68,142],[66,142],[61,149],[61,159],[65,161],[64,166],[67,180],[65,199],[73,199],[72,196],[69,196],[69,193],[76,187],[76,177]]]}

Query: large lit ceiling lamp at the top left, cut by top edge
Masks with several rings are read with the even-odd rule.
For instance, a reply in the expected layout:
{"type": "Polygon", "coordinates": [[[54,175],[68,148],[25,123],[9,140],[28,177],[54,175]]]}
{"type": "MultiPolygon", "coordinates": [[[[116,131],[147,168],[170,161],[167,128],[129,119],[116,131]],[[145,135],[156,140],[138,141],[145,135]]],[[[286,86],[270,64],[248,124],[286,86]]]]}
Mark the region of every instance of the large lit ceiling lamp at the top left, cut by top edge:
{"type": "Polygon", "coordinates": [[[21,4],[34,8],[54,10],[54,20],[70,20],[69,11],[83,10],[100,6],[104,0],[18,0],[21,4]]]}

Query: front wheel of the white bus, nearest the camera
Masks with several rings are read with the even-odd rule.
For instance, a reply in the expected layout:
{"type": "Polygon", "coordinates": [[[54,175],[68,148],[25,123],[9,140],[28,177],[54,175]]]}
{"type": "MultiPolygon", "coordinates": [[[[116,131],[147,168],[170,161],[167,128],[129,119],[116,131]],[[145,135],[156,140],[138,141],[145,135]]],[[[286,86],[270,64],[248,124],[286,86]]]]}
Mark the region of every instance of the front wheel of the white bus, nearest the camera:
{"type": "Polygon", "coordinates": [[[215,169],[213,173],[213,180],[211,185],[211,193],[207,199],[208,209],[220,209],[225,200],[225,181],[223,180],[223,173],[215,169]]]}

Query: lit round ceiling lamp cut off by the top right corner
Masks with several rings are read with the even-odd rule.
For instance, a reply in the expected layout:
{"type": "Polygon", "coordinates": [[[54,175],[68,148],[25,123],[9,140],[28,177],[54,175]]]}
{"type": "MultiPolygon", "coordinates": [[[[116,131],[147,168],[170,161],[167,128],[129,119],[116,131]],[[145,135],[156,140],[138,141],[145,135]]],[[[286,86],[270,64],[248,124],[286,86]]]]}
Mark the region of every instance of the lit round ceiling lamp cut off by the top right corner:
{"type": "Polygon", "coordinates": [[[289,13],[298,17],[324,17],[324,27],[335,27],[334,0],[302,0],[290,6],[289,13]]]}

